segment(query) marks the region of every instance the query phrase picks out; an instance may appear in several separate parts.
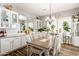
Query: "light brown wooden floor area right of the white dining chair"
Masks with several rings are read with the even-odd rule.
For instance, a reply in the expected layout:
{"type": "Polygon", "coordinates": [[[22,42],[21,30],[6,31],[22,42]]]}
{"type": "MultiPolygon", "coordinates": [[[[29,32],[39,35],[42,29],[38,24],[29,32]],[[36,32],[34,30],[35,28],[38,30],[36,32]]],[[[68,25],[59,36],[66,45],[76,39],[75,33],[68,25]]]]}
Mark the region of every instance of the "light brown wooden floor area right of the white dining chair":
{"type": "Polygon", "coordinates": [[[79,47],[63,44],[60,56],[79,56],[79,47]]]}

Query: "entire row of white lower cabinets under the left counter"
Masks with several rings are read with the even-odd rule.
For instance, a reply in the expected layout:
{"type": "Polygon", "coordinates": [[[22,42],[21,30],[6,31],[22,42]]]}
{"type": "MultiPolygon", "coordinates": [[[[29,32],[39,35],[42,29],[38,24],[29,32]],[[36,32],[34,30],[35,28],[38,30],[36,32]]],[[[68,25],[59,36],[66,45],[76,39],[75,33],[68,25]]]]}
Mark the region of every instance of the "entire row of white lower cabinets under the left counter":
{"type": "Polygon", "coordinates": [[[0,54],[5,54],[22,46],[25,46],[27,44],[27,41],[31,42],[29,35],[1,38],[0,54]]]}

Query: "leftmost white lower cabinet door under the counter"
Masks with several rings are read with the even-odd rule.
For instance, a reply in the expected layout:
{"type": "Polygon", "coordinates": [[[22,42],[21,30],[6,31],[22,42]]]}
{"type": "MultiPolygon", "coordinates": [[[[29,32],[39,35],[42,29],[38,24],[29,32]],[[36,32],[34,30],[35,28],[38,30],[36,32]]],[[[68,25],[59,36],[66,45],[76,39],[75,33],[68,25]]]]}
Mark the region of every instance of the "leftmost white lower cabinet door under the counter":
{"type": "Polygon", "coordinates": [[[12,40],[10,38],[1,39],[1,53],[6,53],[12,49],[12,40]]]}

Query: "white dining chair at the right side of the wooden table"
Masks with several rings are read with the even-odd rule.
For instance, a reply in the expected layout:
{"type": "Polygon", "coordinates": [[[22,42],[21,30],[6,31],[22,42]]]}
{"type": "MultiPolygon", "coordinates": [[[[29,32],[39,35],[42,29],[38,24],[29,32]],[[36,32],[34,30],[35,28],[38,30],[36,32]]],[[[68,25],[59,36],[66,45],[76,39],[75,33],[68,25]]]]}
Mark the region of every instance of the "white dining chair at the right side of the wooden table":
{"type": "Polygon", "coordinates": [[[53,49],[53,56],[56,56],[60,53],[60,48],[61,48],[61,37],[60,35],[51,35],[49,37],[49,49],[53,49]]]}

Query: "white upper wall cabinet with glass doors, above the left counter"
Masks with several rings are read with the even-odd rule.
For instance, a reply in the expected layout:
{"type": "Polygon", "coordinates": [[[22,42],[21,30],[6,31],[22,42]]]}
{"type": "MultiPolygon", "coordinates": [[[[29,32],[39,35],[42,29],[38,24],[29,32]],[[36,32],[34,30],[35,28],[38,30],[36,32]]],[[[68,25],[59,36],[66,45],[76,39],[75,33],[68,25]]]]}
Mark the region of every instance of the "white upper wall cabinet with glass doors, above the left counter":
{"type": "Polygon", "coordinates": [[[18,13],[0,8],[0,28],[11,28],[15,23],[18,23],[18,13]]]}

